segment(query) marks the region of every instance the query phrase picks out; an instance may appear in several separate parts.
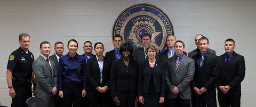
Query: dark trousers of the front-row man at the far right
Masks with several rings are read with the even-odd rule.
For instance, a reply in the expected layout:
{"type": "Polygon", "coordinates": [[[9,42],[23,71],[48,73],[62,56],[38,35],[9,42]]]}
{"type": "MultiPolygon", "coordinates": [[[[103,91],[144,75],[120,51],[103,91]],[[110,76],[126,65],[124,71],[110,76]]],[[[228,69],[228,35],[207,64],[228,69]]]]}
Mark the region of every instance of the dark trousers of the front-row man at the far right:
{"type": "Polygon", "coordinates": [[[220,107],[240,107],[241,104],[241,96],[232,96],[223,94],[220,90],[218,90],[218,101],[220,107]]]}

